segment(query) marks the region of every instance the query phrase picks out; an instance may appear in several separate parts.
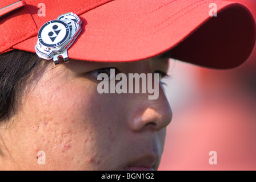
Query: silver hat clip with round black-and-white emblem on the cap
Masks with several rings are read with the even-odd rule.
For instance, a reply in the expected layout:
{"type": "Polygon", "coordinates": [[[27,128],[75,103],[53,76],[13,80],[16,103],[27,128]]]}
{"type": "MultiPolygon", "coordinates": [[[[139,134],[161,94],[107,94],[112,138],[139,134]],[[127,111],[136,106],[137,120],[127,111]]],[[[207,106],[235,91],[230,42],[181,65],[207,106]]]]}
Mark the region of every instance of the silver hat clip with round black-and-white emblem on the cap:
{"type": "Polygon", "coordinates": [[[35,52],[43,59],[53,59],[59,64],[59,56],[65,63],[69,61],[67,49],[74,43],[80,34],[82,21],[74,13],[60,15],[56,20],[51,20],[40,28],[35,52]]]}

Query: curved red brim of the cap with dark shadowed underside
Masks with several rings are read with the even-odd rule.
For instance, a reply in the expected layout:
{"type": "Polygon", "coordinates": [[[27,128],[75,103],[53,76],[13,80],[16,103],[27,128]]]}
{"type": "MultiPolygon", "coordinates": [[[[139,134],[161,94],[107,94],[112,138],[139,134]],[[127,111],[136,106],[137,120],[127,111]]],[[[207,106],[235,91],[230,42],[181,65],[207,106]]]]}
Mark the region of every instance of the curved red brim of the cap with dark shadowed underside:
{"type": "MultiPolygon", "coordinates": [[[[225,1],[111,1],[79,15],[82,32],[71,59],[136,61],[170,51],[202,67],[241,65],[255,44],[255,20],[243,5],[225,1]],[[211,3],[217,16],[211,17],[211,3]]],[[[74,12],[75,13],[75,12],[74,12]]],[[[35,52],[37,37],[13,48],[35,52]]]]}

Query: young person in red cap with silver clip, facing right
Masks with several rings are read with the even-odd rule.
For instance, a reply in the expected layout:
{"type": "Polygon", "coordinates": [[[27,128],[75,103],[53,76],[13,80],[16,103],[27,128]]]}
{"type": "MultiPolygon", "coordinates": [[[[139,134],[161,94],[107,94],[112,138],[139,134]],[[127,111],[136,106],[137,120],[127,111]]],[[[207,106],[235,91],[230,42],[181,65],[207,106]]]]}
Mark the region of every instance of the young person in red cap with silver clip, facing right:
{"type": "Polygon", "coordinates": [[[225,1],[0,7],[0,168],[7,170],[156,170],[172,118],[161,88],[169,57],[235,68],[255,43],[250,11],[225,1]]]}

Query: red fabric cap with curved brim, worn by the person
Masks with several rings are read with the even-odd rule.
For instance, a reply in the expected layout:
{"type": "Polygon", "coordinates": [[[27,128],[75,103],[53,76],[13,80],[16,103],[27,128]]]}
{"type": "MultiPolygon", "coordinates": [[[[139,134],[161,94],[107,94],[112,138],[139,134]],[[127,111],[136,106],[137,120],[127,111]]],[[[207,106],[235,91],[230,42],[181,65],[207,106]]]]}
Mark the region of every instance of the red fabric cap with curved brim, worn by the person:
{"type": "Polygon", "coordinates": [[[70,59],[135,61],[170,51],[174,59],[226,69],[247,60],[255,44],[253,15],[234,2],[1,0],[0,12],[15,3],[21,8],[0,19],[0,53],[35,52],[43,24],[69,12],[82,20],[82,32],[67,50],[70,59]],[[215,8],[217,16],[211,16],[215,8]]]}

